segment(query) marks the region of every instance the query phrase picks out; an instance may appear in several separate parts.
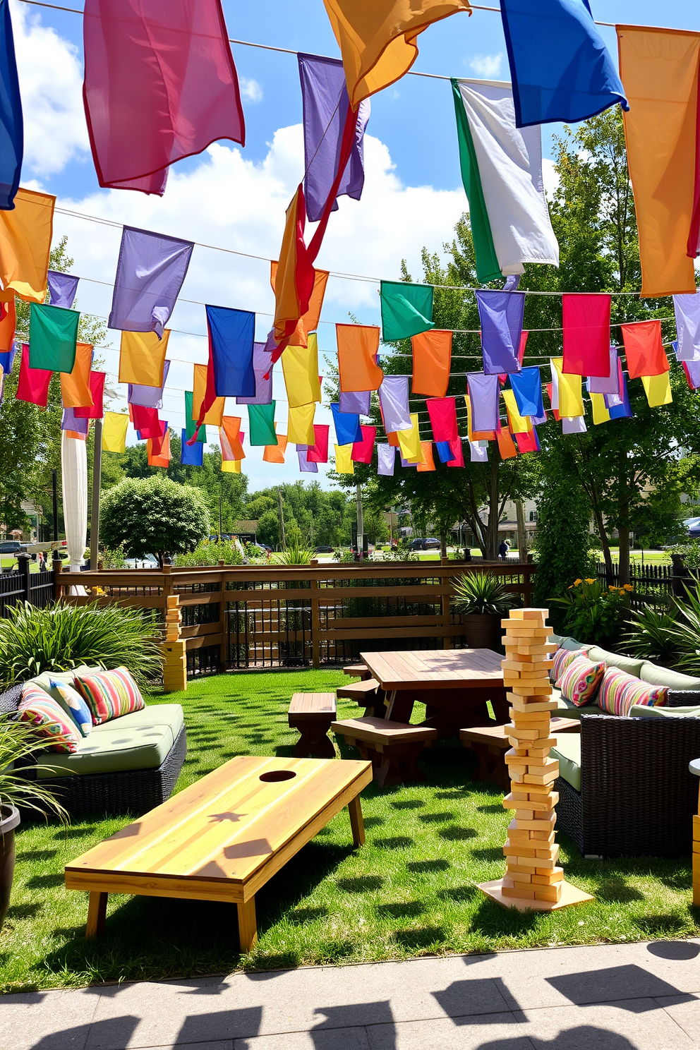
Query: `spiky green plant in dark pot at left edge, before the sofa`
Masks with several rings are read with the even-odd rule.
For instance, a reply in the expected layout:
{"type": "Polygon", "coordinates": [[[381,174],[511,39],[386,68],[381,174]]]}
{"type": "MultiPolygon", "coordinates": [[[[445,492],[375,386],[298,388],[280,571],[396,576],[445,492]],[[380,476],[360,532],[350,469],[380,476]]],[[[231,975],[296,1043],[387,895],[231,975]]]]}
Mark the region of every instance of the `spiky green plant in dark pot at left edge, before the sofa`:
{"type": "Polygon", "coordinates": [[[25,762],[46,743],[37,739],[26,722],[0,717],[0,930],[9,907],[15,874],[15,828],[20,822],[20,806],[44,812],[52,810],[61,820],[67,813],[52,792],[37,780],[25,780],[13,772],[16,763],[25,762]]]}

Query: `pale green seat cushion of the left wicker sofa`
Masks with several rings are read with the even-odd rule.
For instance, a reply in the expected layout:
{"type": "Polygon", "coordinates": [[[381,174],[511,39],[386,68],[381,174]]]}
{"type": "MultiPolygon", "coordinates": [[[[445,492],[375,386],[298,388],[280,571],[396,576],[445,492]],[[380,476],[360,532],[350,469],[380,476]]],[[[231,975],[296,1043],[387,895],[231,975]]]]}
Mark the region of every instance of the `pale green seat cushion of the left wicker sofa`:
{"type": "Polygon", "coordinates": [[[96,726],[73,755],[47,756],[37,764],[40,780],[88,773],[155,770],[183,727],[179,704],[158,704],[96,726]]]}

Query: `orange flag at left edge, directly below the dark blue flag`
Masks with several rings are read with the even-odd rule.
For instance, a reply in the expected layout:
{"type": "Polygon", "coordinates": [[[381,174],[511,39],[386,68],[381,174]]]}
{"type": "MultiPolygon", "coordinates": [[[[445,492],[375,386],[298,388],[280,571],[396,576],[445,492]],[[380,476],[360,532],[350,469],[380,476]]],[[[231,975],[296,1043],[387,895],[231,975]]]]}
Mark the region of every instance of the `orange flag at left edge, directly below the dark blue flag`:
{"type": "Polygon", "coordinates": [[[55,204],[49,193],[20,189],[14,209],[0,211],[0,302],[44,301],[55,204]]]}

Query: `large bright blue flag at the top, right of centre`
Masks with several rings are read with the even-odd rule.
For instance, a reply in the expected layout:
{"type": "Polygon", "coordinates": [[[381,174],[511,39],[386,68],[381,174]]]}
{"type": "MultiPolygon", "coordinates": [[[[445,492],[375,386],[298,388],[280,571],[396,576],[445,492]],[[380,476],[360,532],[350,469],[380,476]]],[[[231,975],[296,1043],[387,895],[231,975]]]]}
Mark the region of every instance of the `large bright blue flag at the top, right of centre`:
{"type": "Polygon", "coordinates": [[[588,0],[501,0],[501,15],[518,128],[630,108],[588,0]]]}

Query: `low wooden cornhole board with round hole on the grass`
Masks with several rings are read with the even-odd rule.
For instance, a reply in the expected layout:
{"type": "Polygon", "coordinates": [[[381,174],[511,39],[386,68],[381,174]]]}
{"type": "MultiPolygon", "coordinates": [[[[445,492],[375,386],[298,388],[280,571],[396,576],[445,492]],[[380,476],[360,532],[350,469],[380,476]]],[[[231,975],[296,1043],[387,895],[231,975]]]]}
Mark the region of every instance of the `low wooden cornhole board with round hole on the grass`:
{"type": "Polygon", "coordinates": [[[345,805],[362,845],[370,782],[370,762],[232,758],[66,864],[66,887],[89,892],[87,937],[102,932],[109,894],[226,901],[250,951],[255,894],[345,805]]]}

